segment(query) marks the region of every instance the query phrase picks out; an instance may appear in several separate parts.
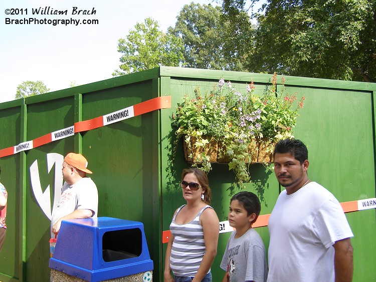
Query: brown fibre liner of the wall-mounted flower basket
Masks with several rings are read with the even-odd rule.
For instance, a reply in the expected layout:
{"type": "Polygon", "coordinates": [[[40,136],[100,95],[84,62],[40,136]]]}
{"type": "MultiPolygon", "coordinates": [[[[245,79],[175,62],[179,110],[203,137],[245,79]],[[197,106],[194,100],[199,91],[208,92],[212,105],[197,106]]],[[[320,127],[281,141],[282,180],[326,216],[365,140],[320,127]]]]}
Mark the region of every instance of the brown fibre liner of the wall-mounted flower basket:
{"type": "MultiPolygon", "coordinates": [[[[221,156],[219,150],[223,147],[222,142],[215,140],[212,137],[207,137],[209,143],[205,148],[205,153],[210,158],[211,163],[229,163],[231,161],[230,157],[225,155],[221,156]]],[[[201,153],[204,152],[204,148],[196,147],[196,137],[191,137],[190,143],[185,142],[185,138],[183,138],[183,149],[184,149],[184,158],[188,163],[201,163],[201,161],[197,161],[198,157],[201,153]]],[[[265,138],[261,140],[255,140],[249,144],[248,150],[252,152],[252,159],[251,164],[253,163],[272,163],[273,160],[273,152],[270,150],[271,145],[267,142],[265,138]]],[[[223,151],[223,150],[222,150],[223,151]]],[[[247,161],[248,162],[248,161],[247,161]]]]}

